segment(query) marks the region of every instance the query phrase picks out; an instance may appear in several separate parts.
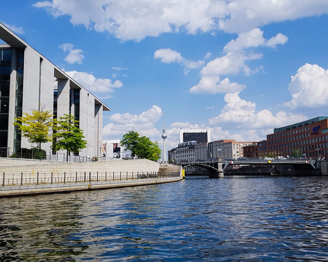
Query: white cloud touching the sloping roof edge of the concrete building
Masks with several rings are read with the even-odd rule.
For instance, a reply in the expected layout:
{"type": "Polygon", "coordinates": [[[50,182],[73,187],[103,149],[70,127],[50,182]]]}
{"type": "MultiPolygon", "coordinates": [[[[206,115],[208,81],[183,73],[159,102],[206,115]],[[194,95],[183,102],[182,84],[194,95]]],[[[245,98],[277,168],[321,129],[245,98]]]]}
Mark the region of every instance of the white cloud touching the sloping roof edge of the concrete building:
{"type": "MultiPolygon", "coordinates": [[[[111,79],[96,78],[94,75],[86,72],[67,71],[65,73],[84,88],[95,94],[113,93],[115,88],[121,88],[123,86],[122,82],[119,80],[112,82],[111,79]]],[[[102,96],[102,98],[108,97],[102,96]]]]}

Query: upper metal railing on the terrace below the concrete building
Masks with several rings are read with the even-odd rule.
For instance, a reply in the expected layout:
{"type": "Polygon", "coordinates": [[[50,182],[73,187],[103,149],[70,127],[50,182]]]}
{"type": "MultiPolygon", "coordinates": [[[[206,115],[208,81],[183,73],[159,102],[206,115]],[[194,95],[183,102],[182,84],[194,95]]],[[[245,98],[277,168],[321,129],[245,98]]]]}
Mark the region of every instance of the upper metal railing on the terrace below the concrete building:
{"type": "Polygon", "coordinates": [[[44,151],[40,153],[39,150],[19,148],[13,149],[10,147],[0,148],[0,157],[3,158],[21,158],[21,159],[39,159],[58,162],[90,162],[94,161],[90,156],[67,156],[66,153],[52,153],[51,151],[44,151]]]}

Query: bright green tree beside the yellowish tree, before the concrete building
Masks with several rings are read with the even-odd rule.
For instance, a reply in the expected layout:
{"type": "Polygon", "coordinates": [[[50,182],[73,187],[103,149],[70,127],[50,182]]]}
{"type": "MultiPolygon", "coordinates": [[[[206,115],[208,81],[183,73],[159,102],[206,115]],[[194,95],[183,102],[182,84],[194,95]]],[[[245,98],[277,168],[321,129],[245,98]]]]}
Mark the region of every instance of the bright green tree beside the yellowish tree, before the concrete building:
{"type": "Polygon", "coordinates": [[[71,114],[64,114],[60,120],[54,120],[53,125],[53,151],[66,150],[67,156],[79,152],[87,146],[87,141],[83,140],[83,130],[79,129],[77,120],[71,114]]]}

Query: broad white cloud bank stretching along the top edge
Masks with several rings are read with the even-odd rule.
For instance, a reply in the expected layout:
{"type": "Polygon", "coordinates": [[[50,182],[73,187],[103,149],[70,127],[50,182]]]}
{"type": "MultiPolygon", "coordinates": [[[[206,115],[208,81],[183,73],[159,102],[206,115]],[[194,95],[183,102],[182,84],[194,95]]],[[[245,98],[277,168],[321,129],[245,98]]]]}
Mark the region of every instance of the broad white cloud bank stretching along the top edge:
{"type": "Polygon", "coordinates": [[[122,41],[140,41],[161,33],[230,33],[328,12],[325,0],[47,0],[33,5],[54,17],[67,15],[73,25],[108,31],[122,41]]]}

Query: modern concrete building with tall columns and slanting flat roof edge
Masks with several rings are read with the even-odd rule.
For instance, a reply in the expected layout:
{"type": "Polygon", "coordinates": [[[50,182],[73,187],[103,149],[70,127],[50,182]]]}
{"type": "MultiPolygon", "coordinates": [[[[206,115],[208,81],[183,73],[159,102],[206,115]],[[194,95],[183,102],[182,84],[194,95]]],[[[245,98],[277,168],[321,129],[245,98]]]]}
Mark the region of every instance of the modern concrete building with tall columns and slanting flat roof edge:
{"type": "MultiPolygon", "coordinates": [[[[30,148],[12,123],[39,104],[56,117],[72,114],[87,141],[80,155],[101,156],[103,111],[111,109],[0,23],[0,148],[30,148]]],[[[42,144],[50,151],[51,142],[42,144]]]]}

